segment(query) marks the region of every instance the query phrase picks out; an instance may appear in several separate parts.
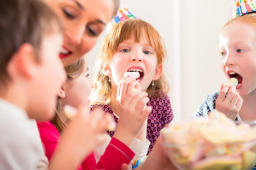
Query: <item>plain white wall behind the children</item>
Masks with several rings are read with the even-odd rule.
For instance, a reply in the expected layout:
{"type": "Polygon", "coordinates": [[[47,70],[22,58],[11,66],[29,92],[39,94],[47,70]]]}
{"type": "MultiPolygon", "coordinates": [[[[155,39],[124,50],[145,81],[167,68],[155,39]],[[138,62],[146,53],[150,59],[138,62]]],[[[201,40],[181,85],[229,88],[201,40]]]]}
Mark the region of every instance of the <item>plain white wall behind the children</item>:
{"type": "MultiPolygon", "coordinates": [[[[165,41],[165,74],[174,121],[188,119],[206,95],[227,81],[220,68],[219,31],[229,20],[229,0],[121,0],[155,27],[165,41]]],[[[95,57],[106,34],[86,54],[93,79],[95,57]]]]}

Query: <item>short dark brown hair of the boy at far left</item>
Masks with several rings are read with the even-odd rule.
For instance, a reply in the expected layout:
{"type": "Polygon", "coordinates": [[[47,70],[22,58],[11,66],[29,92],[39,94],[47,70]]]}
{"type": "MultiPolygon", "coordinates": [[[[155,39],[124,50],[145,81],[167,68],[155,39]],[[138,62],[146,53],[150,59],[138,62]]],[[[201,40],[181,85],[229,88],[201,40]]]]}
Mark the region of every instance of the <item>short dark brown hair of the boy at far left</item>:
{"type": "Polygon", "coordinates": [[[0,85],[10,77],[6,67],[12,55],[23,43],[34,47],[35,58],[40,62],[43,37],[63,27],[55,13],[40,0],[0,0],[0,85]]]}

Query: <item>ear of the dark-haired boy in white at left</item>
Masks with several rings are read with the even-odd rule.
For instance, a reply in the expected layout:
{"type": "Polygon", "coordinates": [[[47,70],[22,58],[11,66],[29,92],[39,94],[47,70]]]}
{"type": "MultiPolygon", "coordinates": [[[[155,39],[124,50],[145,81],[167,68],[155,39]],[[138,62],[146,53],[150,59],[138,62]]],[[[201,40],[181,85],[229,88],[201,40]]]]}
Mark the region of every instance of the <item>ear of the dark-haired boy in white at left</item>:
{"type": "Polygon", "coordinates": [[[7,69],[13,76],[20,75],[31,79],[35,76],[37,67],[38,63],[35,59],[34,47],[30,43],[24,43],[12,55],[7,69]]]}

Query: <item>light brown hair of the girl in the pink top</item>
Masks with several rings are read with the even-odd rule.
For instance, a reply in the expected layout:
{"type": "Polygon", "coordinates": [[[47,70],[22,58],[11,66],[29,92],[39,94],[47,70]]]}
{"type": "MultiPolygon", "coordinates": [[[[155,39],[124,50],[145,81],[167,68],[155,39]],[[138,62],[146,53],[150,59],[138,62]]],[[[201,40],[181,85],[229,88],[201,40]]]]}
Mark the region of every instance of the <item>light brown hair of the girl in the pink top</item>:
{"type": "MultiPolygon", "coordinates": [[[[74,63],[65,67],[67,81],[72,81],[73,79],[79,77],[83,71],[85,66],[85,59],[82,57],[75,61],[74,63]]],[[[61,133],[62,130],[66,127],[69,122],[69,118],[63,112],[63,104],[61,102],[61,98],[58,97],[56,108],[55,108],[55,117],[51,120],[51,122],[55,125],[58,131],[61,133]]]]}

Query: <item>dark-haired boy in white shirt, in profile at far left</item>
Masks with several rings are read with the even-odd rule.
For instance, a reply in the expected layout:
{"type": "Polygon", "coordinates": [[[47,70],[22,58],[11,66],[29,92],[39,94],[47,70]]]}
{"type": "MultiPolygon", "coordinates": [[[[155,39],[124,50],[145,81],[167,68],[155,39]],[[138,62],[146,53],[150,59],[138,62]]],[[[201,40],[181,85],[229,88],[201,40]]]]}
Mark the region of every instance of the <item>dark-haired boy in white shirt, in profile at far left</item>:
{"type": "MultiPolygon", "coordinates": [[[[58,56],[62,25],[39,0],[1,0],[0,36],[0,169],[48,169],[34,119],[54,116],[56,92],[64,83],[58,56]]],[[[108,120],[101,112],[85,116],[89,111],[80,107],[65,129],[50,170],[77,168],[104,140],[108,120]]]]}

